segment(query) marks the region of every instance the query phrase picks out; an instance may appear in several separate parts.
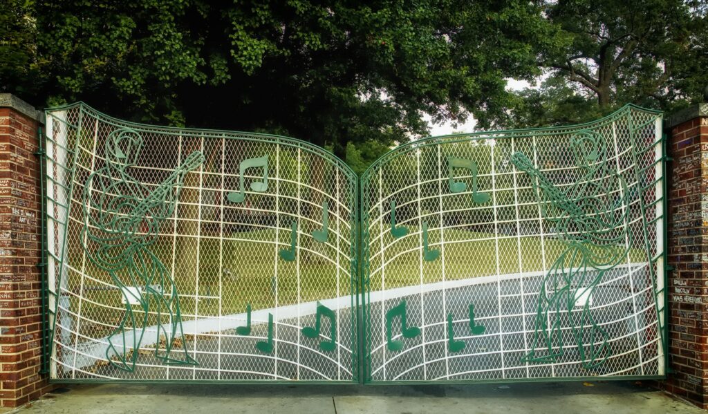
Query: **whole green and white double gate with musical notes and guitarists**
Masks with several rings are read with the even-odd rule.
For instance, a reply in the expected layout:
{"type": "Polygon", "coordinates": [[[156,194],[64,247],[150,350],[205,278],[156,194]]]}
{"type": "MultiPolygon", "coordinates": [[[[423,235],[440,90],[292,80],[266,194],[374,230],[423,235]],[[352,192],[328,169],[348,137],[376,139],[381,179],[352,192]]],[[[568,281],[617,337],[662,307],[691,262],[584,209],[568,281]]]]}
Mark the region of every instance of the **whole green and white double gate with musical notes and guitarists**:
{"type": "Polygon", "coordinates": [[[57,381],[664,374],[661,114],[411,142],[47,111],[57,381]]]}

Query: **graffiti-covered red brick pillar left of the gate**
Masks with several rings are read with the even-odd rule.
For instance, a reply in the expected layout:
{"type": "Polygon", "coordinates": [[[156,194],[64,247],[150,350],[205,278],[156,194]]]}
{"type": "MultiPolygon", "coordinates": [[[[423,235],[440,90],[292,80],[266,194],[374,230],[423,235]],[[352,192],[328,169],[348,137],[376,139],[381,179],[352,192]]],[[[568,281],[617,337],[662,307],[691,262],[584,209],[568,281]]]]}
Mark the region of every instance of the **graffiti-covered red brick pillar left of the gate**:
{"type": "Polygon", "coordinates": [[[50,391],[40,374],[42,301],[38,129],[42,113],[0,94],[0,408],[50,391]]]}

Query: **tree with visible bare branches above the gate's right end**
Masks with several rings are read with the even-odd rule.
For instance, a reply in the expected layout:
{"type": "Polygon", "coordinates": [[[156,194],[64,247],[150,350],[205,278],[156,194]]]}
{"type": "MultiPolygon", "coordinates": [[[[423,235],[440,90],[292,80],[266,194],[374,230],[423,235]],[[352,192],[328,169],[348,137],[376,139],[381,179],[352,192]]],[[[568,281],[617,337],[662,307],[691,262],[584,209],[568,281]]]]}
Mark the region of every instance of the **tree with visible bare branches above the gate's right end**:
{"type": "Polygon", "coordinates": [[[584,122],[625,103],[673,110],[702,98],[708,63],[704,0],[549,1],[554,42],[539,53],[549,76],[482,126],[584,122]]]}

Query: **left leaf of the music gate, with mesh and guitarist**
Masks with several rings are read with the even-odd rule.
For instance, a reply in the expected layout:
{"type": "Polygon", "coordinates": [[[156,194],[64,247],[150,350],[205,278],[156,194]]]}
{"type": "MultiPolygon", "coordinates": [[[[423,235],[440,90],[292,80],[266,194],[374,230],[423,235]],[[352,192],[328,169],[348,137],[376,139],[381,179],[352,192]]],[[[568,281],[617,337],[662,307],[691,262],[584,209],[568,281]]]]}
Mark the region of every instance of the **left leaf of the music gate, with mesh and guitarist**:
{"type": "Polygon", "coordinates": [[[52,378],[358,379],[357,180],[341,161],[83,104],[47,111],[46,144],[52,378]]]}

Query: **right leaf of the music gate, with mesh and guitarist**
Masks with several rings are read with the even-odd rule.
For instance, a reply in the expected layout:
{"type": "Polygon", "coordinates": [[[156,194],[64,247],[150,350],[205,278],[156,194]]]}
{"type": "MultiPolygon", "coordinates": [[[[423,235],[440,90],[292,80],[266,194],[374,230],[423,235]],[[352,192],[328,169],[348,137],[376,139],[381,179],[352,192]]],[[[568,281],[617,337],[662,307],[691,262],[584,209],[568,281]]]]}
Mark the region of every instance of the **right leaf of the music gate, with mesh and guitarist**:
{"type": "Polygon", "coordinates": [[[365,381],[663,374],[662,157],[661,115],[627,106],[379,159],[365,381]]]}

